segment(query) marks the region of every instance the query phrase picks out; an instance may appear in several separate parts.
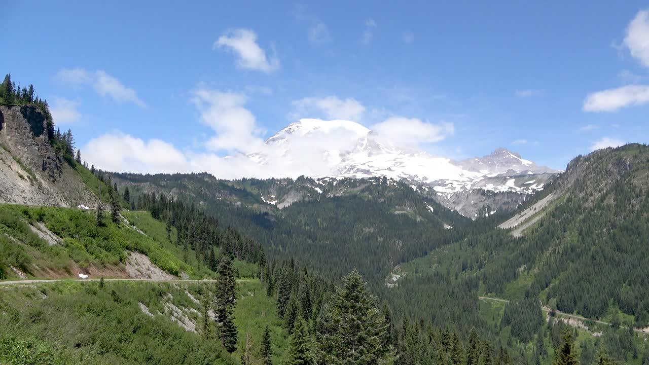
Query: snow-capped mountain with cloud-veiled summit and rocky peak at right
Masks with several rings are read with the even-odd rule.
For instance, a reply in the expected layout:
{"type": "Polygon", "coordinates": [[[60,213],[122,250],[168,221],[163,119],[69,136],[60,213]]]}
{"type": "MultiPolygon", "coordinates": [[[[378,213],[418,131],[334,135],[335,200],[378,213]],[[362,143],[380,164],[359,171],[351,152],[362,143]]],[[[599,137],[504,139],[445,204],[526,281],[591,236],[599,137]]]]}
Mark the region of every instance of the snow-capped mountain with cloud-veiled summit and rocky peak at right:
{"type": "Polygon", "coordinates": [[[363,125],[345,120],[302,119],[268,138],[264,147],[249,154],[250,160],[262,166],[280,160],[296,174],[311,177],[386,176],[411,181],[413,188],[433,190],[441,203],[467,216],[475,216],[483,207],[487,215],[503,207],[503,203],[489,205],[497,200],[490,194],[511,195],[505,200],[515,207],[559,172],[504,148],[459,161],[437,157],[395,146],[363,125]],[[471,203],[458,201],[468,197],[471,203]]]}

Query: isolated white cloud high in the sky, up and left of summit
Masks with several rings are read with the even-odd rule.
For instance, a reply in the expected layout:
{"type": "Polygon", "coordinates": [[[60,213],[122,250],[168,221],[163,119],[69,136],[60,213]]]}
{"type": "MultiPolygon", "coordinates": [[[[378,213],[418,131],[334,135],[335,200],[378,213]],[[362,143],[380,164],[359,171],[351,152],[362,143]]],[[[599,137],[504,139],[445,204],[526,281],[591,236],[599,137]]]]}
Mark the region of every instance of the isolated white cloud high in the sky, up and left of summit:
{"type": "Polygon", "coordinates": [[[238,57],[237,66],[239,68],[271,73],[280,67],[280,61],[276,55],[266,56],[266,52],[257,44],[257,34],[251,29],[227,31],[214,42],[213,48],[226,48],[234,52],[238,57]]]}

